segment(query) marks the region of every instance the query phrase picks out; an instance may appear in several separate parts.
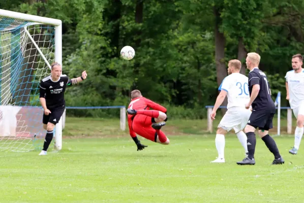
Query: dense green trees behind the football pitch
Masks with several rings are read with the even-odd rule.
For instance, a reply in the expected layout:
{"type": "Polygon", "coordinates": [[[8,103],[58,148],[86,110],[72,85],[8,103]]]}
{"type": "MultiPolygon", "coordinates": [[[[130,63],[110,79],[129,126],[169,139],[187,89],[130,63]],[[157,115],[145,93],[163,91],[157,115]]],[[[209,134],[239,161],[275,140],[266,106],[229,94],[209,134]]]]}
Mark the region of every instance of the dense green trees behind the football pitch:
{"type": "Polygon", "coordinates": [[[0,7],[63,21],[64,73],[88,73],[67,90],[68,106],[128,105],[130,91],[139,89],[172,117],[203,118],[227,62],[240,60],[247,75],[249,52],[261,55],[273,99],[281,91],[288,106],[284,76],[304,48],[300,0],[4,0],[0,7]],[[119,57],[126,45],[136,51],[130,61],[119,57]]]}

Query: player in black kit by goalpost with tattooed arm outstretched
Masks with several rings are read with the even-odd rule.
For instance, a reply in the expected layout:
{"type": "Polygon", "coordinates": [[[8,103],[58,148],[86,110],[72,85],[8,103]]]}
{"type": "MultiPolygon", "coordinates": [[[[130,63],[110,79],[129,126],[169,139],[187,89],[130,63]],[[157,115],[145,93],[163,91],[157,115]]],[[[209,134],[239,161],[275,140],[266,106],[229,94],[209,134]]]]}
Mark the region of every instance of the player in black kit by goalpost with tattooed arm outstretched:
{"type": "Polygon", "coordinates": [[[51,75],[40,81],[40,102],[43,107],[43,128],[46,129],[43,149],[39,155],[46,155],[46,151],[53,139],[53,129],[63,115],[65,104],[66,87],[75,85],[86,79],[86,72],[82,76],[69,80],[68,76],[62,75],[62,67],[59,63],[51,64],[51,75]]]}

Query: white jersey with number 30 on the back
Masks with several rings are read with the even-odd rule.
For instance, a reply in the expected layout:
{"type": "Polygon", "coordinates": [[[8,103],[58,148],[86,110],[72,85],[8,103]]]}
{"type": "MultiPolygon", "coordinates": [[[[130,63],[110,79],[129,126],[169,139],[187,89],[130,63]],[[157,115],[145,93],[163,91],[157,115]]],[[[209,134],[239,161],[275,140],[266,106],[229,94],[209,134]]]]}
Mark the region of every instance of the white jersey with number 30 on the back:
{"type": "Polygon", "coordinates": [[[244,107],[249,103],[249,87],[248,77],[233,73],[224,78],[219,90],[227,92],[228,105],[227,109],[231,107],[244,107]]]}

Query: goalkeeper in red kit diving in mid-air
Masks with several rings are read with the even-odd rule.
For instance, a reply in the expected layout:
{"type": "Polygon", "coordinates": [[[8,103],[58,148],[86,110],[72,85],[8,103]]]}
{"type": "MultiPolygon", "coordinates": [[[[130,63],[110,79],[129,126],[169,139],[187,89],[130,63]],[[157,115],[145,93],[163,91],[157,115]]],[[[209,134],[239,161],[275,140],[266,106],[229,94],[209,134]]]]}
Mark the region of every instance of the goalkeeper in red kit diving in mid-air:
{"type": "Polygon", "coordinates": [[[143,97],[139,90],[133,90],[127,112],[130,136],[137,145],[137,151],[143,150],[147,146],[140,143],[136,133],[153,142],[164,145],[170,143],[165,133],[161,130],[161,127],[167,121],[167,109],[165,107],[143,97]],[[150,110],[150,108],[153,110],[150,110]]]}

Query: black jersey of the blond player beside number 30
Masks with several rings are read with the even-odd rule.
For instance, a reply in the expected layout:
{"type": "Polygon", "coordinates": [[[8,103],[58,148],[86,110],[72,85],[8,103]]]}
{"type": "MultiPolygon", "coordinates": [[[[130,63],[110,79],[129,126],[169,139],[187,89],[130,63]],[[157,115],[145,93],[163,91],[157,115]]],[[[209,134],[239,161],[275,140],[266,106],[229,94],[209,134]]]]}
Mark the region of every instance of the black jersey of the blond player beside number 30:
{"type": "Polygon", "coordinates": [[[276,106],[271,98],[270,86],[266,77],[261,70],[254,68],[248,76],[249,93],[252,93],[253,85],[260,85],[260,91],[252,103],[253,111],[270,111],[276,113],[276,106]]]}

